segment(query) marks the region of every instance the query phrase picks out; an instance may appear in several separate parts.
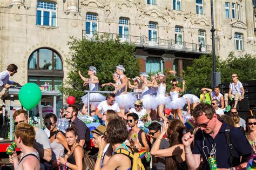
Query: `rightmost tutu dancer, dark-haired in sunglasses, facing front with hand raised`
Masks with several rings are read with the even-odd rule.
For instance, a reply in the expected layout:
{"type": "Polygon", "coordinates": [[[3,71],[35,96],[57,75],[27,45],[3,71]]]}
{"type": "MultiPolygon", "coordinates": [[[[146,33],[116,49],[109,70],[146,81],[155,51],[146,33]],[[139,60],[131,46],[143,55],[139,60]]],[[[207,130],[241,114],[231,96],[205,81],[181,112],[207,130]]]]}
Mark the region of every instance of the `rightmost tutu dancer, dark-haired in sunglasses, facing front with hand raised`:
{"type": "Polygon", "coordinates": [[[174,119],[177,118],[177,114],[178,114],[179,119],[183,122],[183,118],[181,117],[181,109],[185,106],[186,99],[182,97],[179,98],[179,93],[185,91],[185,81],[184,80],[182,81],[183,83],[182,90],[179,87],[177,87],[178,81],[175,78],[172,79],[171,83],[172,83],[172,89],[170,91],[170,95],[171,95],[172,101],[170,102],[169,105],[167,105],[167,108],[172,109],[172,114],[174,119]]]}

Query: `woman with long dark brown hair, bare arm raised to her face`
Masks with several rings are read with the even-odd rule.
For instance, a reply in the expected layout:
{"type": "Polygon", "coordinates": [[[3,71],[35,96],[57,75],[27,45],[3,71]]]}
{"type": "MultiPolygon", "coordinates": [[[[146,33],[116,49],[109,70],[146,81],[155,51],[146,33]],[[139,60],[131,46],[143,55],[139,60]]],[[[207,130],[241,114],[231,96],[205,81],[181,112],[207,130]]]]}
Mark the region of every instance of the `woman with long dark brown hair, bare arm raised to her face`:
{"type": "Polygon", "coordinates": [[[183,122],[179,119],[174,119],[171,123],[165,120],[162,131],[151,148],[150,153],[152,155],[156,157],[167,157],[165,160],[165,169],[188,169],[185,161],[185,149],[181,140],[183,138],[184,128],[183,122]],[[165,134],[169,139],[170,147],[167,149],[159,149],[160,142],[165,134]]]}

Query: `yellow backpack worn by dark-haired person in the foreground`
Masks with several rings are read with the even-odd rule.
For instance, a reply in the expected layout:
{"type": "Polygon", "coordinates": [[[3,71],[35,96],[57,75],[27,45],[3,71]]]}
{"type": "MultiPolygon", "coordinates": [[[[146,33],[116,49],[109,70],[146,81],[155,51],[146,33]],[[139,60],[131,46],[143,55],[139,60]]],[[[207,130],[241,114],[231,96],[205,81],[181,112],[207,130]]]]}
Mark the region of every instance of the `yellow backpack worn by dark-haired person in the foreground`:
{"type": "MultiPolygon", "coordinates": [[[[129,147],[129,146],[127,146],[127,147],[129,147]]],[[[126,157],[130,158],[132,170],[145,170],[145,168],[142,164],[142,160],[140,160],[140,158],[139,158],[139,153],[134,153],[133,150],[132,150],[132,152],[130,152],[124,148],[119,148],[116,152],[114,152],[114,154],[123,154],[126,157]]]]}

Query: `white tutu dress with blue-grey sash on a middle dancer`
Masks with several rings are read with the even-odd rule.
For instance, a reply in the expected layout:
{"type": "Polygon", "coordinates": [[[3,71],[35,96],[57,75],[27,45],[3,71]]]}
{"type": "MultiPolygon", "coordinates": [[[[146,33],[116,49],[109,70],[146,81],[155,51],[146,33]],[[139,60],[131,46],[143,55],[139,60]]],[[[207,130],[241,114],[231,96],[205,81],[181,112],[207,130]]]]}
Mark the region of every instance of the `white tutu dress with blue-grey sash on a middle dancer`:
{"type": "Polygon", "coordinates": [[[142,91],[142,100],[143,100],[143,107],[146,109],[156,109],[157,103],[156,98],[150,95],[149,87],[145,86],[144,90],[142,91]]]}

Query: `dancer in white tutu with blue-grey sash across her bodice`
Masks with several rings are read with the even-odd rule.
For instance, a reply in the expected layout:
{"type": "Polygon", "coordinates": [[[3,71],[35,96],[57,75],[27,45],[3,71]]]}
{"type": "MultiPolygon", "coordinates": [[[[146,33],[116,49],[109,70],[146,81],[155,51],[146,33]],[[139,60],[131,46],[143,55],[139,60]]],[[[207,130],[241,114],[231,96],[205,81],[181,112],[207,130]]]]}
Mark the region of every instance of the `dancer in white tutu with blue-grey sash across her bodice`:
{"type": "Polygon", "coordinates": [[[155,110],[157,108],[156,100],[153,96],[150,95],[150,88],[147,86],[150,84],[150,81],[147,80],[146,72],[140,72],[140,80],[142,80],[142,100],[143,106],[146,108],[147,111],[147,120],[151,120],[150,113],[151,109],[155,110]]]}

